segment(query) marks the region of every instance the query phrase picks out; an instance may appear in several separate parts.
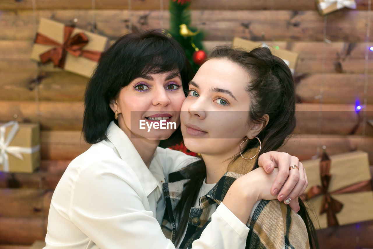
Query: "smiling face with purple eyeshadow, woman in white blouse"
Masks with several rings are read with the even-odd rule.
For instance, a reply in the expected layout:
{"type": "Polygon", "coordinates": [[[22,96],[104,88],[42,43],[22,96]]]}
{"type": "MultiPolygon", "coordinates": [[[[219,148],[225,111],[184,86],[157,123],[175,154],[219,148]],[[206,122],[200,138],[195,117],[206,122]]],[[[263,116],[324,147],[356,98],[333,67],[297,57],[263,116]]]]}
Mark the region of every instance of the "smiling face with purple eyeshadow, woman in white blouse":
{"type": "Polygon", "coordinates": [[[153,125],[161,124],[162,119],[165,120],[162,123],[175,122],[177,128],[184,99],[181,77],[177,72],[137,78],[120,90],[117,100],[119,126],[127,131],[126,134],[131,133],[131,138],[167,139],[175,131],[174,126],[155,129],[153,125]],[[145,120],[141,125],[145,129],[140,129],[140,120],[145,120]]]}

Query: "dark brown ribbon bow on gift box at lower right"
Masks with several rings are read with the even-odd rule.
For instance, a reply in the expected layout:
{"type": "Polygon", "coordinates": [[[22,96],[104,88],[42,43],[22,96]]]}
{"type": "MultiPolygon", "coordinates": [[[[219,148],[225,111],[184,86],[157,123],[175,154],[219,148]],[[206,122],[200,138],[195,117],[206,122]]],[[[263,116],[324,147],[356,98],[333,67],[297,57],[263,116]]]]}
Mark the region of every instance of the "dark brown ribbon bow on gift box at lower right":
{"type": "MultiPolygon", "coordinates": [[[[329,171],[329,169],[327,170],[329,171]]],[[[321,172],[323,172],[323,170],[321,172]]],[[[323,214],[326,212],[328,227],[339,225],[336,213],[341,212],[342,207],[343,207],[343,203],[334,199],[331,196],[331,194],[357,193],[357,192],[372,190],[372,185],[370,184],[370,181],[367,180],[367,181],[358,182],[356,184],[352,184],[350,186],[341,188],[333,192],[328,192],[331,175],[329,174],[329,172],[321,173],[320,177],[321,177],[322,186],[316,185],[316,186],[311,187],[311,189],[306,194],[303,194],[302,197],[304,200],[309,200],[313,197],[323,194],[320,214],[323,214]]]]}

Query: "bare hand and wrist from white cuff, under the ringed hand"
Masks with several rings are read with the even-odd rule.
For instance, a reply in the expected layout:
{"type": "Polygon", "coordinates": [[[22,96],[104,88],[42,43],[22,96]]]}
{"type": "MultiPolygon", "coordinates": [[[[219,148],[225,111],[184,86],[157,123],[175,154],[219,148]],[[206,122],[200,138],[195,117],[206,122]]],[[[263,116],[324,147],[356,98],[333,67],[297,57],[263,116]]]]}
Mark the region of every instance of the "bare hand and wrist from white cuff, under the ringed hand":
{"type": "Polygon", "coordinates": [[[223,203],[229,210],[246,224],[251,210],[258,200],[275,200],[271,187],[278,175],[278,169],[266,173],[259,167],[239,177],[224,197],[223,203]]]}

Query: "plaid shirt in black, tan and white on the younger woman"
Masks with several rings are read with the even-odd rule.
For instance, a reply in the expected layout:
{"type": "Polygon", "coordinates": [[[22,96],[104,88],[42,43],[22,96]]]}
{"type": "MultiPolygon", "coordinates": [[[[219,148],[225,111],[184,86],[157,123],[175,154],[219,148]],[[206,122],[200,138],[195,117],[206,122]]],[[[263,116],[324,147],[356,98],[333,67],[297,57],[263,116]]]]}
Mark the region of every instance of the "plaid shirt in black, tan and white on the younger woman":
{"type": "MultiPolygon", "coordinates": [[[[250,153],[245,154],[247,156],[250,153]]],[[[254,161],[236,160],[217,184],[199,199],[200,208],[192,207],[186,234],[180,248],[191,248],[194,240],[199,239],[204,228],[211,221],[211,208],[216,209],[223,201],[232,183],[251,170],[254,161]],[[251,164],[251,165],[250,165],[251,164]]],[[[166,213],[162,222],[163,233],[175,243],[178,221],[173,210],[178,204],[184,184],[189,181],[196,163],[177,172],[170,173],[169,182],[163,184],[166,198],[166,213]]],[[[250,228],[245,248],[309,248],[307,229],[303,219],[288,205],[278,200],[258,201],[247,223],[250,228]]]]}

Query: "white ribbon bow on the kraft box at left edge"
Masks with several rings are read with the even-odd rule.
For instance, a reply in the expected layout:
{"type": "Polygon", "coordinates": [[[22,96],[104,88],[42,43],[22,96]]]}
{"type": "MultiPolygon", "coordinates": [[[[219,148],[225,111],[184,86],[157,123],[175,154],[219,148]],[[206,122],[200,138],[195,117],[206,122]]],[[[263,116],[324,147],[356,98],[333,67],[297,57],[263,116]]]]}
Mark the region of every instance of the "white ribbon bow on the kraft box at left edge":
{"type": "Polygon", "coordinates": [[[0,165],[3,166],[3,171],[9,171],[9,158],[8,153],[23,160],[21,153],[32,154],[35,151],[40,150],[40,145],[36,145],[32,148],[19,147],[19,146],[9,146],[12,142],[16,133],[18,132],[19,124],[16,121],[10,121],[0,126],[0,165]],[[5,138],[5,129],[8,126],[13,126],[10,130],[8,136],[5,138]]]}

